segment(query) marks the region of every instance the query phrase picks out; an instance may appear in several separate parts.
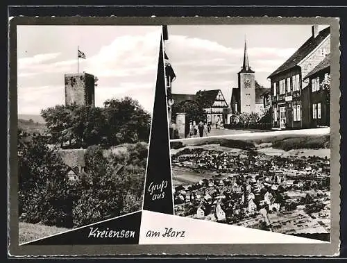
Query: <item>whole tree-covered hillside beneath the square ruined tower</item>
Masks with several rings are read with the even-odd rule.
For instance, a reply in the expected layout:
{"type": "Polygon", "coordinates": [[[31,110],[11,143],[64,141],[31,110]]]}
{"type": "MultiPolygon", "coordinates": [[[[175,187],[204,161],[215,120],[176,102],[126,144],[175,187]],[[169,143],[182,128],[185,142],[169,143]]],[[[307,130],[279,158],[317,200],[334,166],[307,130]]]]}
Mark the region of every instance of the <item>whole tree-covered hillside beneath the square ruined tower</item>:
{"type": "Polygon", "coordinates": [[[151,116],[128,97],[104,106],[56,105],[42,110],[46,133],[18,130],[22,226],[76,228],[141,210],[151,116]],[[81,147],[85,169],[71,181],[59,151],[81,147]]]}

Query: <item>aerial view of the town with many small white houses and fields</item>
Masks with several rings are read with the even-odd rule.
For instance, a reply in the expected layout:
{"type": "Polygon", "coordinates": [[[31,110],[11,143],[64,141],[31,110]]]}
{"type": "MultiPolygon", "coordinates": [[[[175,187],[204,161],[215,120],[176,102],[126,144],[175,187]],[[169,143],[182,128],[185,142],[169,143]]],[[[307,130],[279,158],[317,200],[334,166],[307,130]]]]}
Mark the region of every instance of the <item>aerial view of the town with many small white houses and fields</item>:
{"type": "Polygon", "coordinates": [[[175,214],[329,240],[329,128],[271,134],[171,141],[175,214]]]}

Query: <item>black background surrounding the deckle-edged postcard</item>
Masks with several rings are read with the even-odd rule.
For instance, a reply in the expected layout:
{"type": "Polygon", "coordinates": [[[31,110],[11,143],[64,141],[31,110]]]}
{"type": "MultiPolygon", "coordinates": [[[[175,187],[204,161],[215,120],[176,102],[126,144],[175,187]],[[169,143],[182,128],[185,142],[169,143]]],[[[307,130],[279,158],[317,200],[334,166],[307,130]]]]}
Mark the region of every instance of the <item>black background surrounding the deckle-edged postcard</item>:
{"type": "MultiPolygon", "coordinates": [[[[341,227],[341,255],[339,257],[339,260],[342,260],[342,258],[347,257],[347,242],[346,242],[346,234],[347,234],[347,216],[346,216],[346,177],[344,176],[345,173],[345,167],[344,167],[344,160],[346,160],[346,153],[344,151],[344,148],[346,146],[346,142],[344,140],[344,135],[345,135],[345,122],[346,122],[346,117],[345,117],[345,96],[346,96],[346,50],[344,49],[344,46],[347,45],[347,40],[346,40],[346,35],[347,35],[347,6],[343,1],[333,1],[330,0],[328,3],[330,5],[335,5],[335,6],[326,6],[327,1],[314,1],[314,3],[310,3],[310,1],[297,1],[297,0],[292,0],[292,1],[267,1],[267,3],[264,3],[262,1],[262,5],[266,6],[252,6],[255,4],[260,4],[260,1],[232,1],[232,3],[226,3],[225,1],[219,1],[219,3],[216,3],[215,1],[176,1],[176,4],[183,4],[185,6],[153,6],[155,4],[160,5],[162,2],[167,3],[167,1],[142,1],[141,3],[139,1],[94,1],[91,3],[90,1],[60,1],[60,2],[54,2],[54,1],[31,1],[29,3],[28,1],[8,1],[7,4],[12,5],[12,7],[6,5],[6,22],[3,22],[3,26],[6,25],[6,34],[7,34],[7,25],[8,25],[8,17],[7,16],[18,16],[18,15],[25,15],[25,16],[71,16],[71,15],[81,15],[81,16],[109,16],[109,15],[117,15],[117,16],[144,16],[144,17],[149,17],[151,15],[155,15],[157,17],[164,17],[164,16],[186,16],[186,17],[193,17],[193,16],[200,16],[200,17],[225,17],[225,16],[269,16],[269,17],[277,17],[277,16],[282,16],[282,17],[315,17],[315,16],[321,16],[321,17],[340,17],[340,42],[341,42],[341,57],[340,57],[340,71],[341,71],[341,76],[340,76],[340,83],[341,83],[341,101],[340,101],[340,107],[341,107],[341,119],[340,119],[340,126],[341,126],[341,220],[340,220],[340,227],[341,227]],[[52,3],[53,2],[53,3],[52,3]],[[306,3],[305,3],[306,2],[306,3]],[[276,3],[277,6],[271,6],[271,3],[276,3]],[[20,6],[20,5],[28,5],[28,4],[35,4],[37,6],[31,7],[31,6],[20,6]],[[58,7],[58,6],[45,6],[42,7],[42,5],[70,5],[70,6],[65,6],[65,7],[58,7]],[[98,6],[106,6],[106,7],[94,7],[94,6],[81,6],[81,5],[98,5],[98,6]],[[108,5],[119,5],[119,6],[108,6],[108,5]],[[147,6],[121,6],[121,5],[147,5],[147,6]],[[187,5],[191,6],[187,6],[187,5]],[[199,4],[200,6],[194,6],[196,4],[199,4]],[[205,6],[201,6],[201,5],[205,6]],[[219,4],[220,6],[211,6],[211,5],[216,5],[219,4]],[[226,6],[232,4],[233,6],[226,6]],[[14,7],[17,6],[18,7],[14,7]],[[41,7],[40,7],[41,5],[41,7]],[[75,6],[71,6],[75,5],[75,6]],[[80,5],[80,6],[78,6],[80,5]],[[222,5],[222,6],[221,6],[222,5]],[[242,6],[236,6],[236,5],[242,5],[242,6]],[[341,5],[341,6],[337,6],[341,5]],[[78,6],[78,7],[76,7],[78,6]]],[[[6,2],[5,2],[6,3],[6,2]]],[[[169,3],[167,3],[169,4],[169,3]]],[[[5,10],[5,9],[3,9],[5,10]]],[[[5,15],[5,12],[3,12],[3,15],[5,15]]],[[[3,16],[5,17],[5,16],[3,16]]],[[[4,36],[4,35],[3,35],[4,36]]],[[[1,45],[3,46],[3,45],[1,45]]],[[[7,43],[4,46],[3,53],[5,53],[5,60],[6,65],[8,61],[8,46],[7,43]]],[[[6,72],[7,71],[6,67],[6,72]]],[[[4,103],[1,103],[3,105],[4,110],[3,113],[6,114],[6,124],[7,124],[7,87],[8,82],[7,78],[3,78],[5,81],[5,85],[3,86],[3,91],[5,92],[3,96],[3,101],[4,103]]],[[[3,138],[7,137],[7,125],[4,125],[5,127],[4,130],[6,130],[6,136],[3,136],[3,138]]],[[[7,141],[6,141],[7,145],[7,141]]],[[[3,149],[6,149],[6,146],[3,147],[3,149]]],[[[6,151],[7,154],[7,151],[6,151]]],[[[3,158],[4,159],[4,158],[3,158]]],[[[7,164],[5,164],[3,167],[6,167],[6,173],[7,173],[7,164]]],[[[3,180],[6,182],[6,176],[3,173],[3,180]]],[[[3,186],[5,186],[6,183],[3,183],[3,186]]],[[[6,189],[7,190],[7,189],[6,189]]],[[[3,200],[5,200],[7,191],[3,191],[3,200]]],[[[7,203],[6,203],[7,205],[7,203]]],[[[3,212],[3,215],[6,213],[3,212]]],[[[6,217],[7,221],[7,217],[6,217]]],[[[3,232],[6,232],[6,223],[3,224],[3,232]]],[[[3,246],[5,248],[5,246],[3,246]]],[[[7,248],[6,248],[7,249],[7,248]]],[[[7,255],[7,253],[3,253],[3,255],[7,255]]],[[[161,256],[162,257],[162,256],[161,256]]],[[[187,258],[188,256],[185,256],[187,258]]],[[[202,256],[201,256],[202,257],[202,256]]],[[[253,256],[254,257],[254,256],[253,256]]],[[[205,259],[209,259],[210,261],[212,260],[210,256],[205,257],[205,259]]],[[[46,261],[45,259],[44,261],[46,261]]],[[[78,259],[75,259],[78,260],[78,259]]],[[[175,259],[176,261],[177,259],[175,259]]],[[[241,261],[240,258],[235,258],[234,260],[223,260],[219,259],[219,261],[224,261],[224,262],[234,262],[235,260],[241,261]]],[[[278,261],[283,261],[283,262],[293,262],[294,259],[289,259],[289,258],[282,258],[279,260],[278,258],[269,258],[266,257],[266,260],[264,257],[260,258],[246,258],[247,262],[265,262],[265,261],[273,261],[273,262],[278,262],[278,261]]],[[[315,259],[314,257],[310,257],[310,259],[300,259],[296,257],[295,260],[302,260],[303,262],[316,262],[316,261],[321,261],[321,260],[328,260],[333,261],[333,260],[338,260],[337,258],[320,258],[320,259],[315,259]]],[[[13,260],[12,260],[13,261],[13,260]]],[[[33,261],[33,260],[26,260],[26,261],[33,261]]],[[[62,261],[62,260],[56,260],[56,261],[62,261]]],[[[78,260],[80,261],[80,260],[78,260]]],[[[90,261],[90,262],[95,262],[97,260],[83,260],[85,261],[90,261]]],[[[115,262],[115,260],[108,260],[109,262],[115,262]]],[[[124,262],[125,259],[121,259],[121,262],[124,262]]],[[[148,262],[153,262],[153,259],[151,260],[141,260],[143,262],[148,261],[148,262]]],[[[188,260],[184,260],[188,261],[188,260]]],[[[197,261],[197,260],[189,260],[189,262],[192,261],[197,261]]],[[[216,260],[212,260],[216,261],[216,260]]],[[[343,260],[344,261],[344,260],[343,260]]],[[[82,262],[82,260],[81,260],[82,262]]]]}

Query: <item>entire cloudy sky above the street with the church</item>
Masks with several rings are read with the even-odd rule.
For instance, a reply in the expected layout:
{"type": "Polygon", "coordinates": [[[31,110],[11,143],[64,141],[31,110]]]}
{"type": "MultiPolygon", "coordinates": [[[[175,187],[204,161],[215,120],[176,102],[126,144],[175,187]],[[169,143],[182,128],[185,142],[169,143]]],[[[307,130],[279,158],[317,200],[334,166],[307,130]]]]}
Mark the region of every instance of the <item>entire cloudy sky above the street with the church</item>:
{"type": "MultiPolygon", "coordinates": [[[[327,26],[319,26],[319,31],[327,26]]],[[[269,87],[267,77],[311,35],[310,25],[168,26],[166,52],[176,73],[172,92],[195,94],[220,89],[230,103],[232,87],[247,40],[255,79],[269,87]]]]}

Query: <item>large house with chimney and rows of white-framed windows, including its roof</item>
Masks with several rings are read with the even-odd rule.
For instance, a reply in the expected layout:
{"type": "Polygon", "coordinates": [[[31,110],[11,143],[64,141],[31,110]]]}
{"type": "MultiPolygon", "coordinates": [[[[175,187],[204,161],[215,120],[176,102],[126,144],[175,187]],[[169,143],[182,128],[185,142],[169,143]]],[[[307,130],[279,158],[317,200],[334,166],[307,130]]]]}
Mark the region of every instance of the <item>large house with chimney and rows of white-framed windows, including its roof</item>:
{"type": "MultiPolygon", "coordinates": [[[[273,128],[305,128],[303,98],[308,83],[303,78],[330,53],[330,27],[318,31],[312,26],[312,36],[276,71],[271,80],[273,128]]],[[[305,113],[304,113],[305,114],[305,113]]]]}

